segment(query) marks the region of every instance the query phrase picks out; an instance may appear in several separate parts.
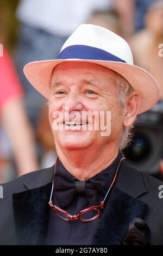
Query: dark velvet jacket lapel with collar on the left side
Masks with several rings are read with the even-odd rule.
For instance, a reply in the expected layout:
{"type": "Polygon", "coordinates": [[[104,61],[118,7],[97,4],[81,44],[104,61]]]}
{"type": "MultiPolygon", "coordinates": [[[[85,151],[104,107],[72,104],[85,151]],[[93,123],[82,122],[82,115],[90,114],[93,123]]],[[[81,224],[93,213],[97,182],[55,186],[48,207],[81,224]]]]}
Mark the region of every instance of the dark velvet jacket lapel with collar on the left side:
{"type": "Polygon", "coordinates": [[[45,244],[54,166],[24,182],[28,190],[12,194],[18,245],[45,244]]]}

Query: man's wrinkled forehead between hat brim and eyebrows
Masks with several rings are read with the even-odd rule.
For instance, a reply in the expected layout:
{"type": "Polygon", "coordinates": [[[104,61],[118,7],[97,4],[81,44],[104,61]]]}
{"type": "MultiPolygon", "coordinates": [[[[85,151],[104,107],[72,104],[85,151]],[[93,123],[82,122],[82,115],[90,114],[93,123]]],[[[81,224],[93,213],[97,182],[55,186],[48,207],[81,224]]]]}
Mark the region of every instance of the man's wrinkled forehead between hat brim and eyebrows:
{"type": "Polygon", "coordinates": [[[51,88],[60,87],[65,82],[77,82],[80,86],[90,84],[101,89],[106,87],[108,90],[108,84],[115,86],[115,74],[115,71],[95,63],[63,62],[53,71],[51,88]]]}

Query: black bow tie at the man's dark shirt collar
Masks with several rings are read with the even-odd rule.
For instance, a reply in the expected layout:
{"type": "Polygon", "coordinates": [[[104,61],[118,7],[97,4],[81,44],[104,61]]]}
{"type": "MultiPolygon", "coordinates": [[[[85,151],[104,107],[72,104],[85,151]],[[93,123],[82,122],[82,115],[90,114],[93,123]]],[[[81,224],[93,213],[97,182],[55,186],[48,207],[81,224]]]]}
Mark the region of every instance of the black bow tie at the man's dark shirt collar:
{"type": "Polygon", "coordinates": [[[72,202],[76,194],[85,195],[89,200],[90,206],[100,204],[105,196],[102,185],[93,180],[93,177],[86,181],[75,180],[69,173],[55,171],[54,175],[54,194],[61,208],[65,208],[72,202]]]}

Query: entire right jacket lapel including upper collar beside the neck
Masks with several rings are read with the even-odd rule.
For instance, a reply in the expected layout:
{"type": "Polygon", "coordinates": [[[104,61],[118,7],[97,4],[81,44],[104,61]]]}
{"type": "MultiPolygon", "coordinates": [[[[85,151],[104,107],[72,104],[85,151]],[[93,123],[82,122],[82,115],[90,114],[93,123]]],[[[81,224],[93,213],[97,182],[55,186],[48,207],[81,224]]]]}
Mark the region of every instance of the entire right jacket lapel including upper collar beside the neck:
{"type": "Polygon", "coordinates": [[[137,199],[144,193],[147,190],[141,173],[123,161],[91,245],[122,245],[130,222],[146,214],[148,206],[137,199]]]}

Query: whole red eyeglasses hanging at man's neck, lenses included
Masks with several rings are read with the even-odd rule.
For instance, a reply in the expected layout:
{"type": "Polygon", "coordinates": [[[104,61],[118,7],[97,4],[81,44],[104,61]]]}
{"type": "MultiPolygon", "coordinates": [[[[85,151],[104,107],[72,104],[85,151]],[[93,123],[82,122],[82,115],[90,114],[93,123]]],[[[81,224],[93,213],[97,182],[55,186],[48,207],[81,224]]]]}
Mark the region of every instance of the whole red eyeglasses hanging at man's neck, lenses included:
{"type": "Polygon", "coordinates": [[[62,220],[64,220],[64,221],[80,220],[82,222],[89,222],[89,221],[96,220],[96,218],[98,218],[99,215],[101,214],[101,210],[104,208],[105,199],[108,196],[109,191],[111,190],[112,186],[114,185],[114,182],[116,180],[116,176],[117,176],[118,170],[120,169],[120,166],[121,166],[121,162],[124,159],[125,159],[124,156],[120,159],[120,162],[118,163],[118,166],[117,166],[117,169],[116,169],[116,173],[115,173],[114,179],[112,180],[112,183],[111,183],[111,185],[109,187],[109,190],[106,193],[106,195],[104,197],[104,200],[101,202],[101,204],[98,205],[98,206],[94,205],[94,206],[91,206],[89,208],[86,208],[86,209],[80,211],[79,214],[77,214],[77,215],[71,215],[71,214],[68,214],[67,211],[64,211],[61,208],[59,208],[58,206],[53,205],[53,202],[52,202],[53,188],[54,188],[54,175],[55,175],[55,170],[58,167],[58,161],[59,161],[59,158],[57,158],[57,161],[55,163],[54,174],[53,174],[53,183],[52,183],[51,197],[50,197],[50,200],[49,200],[49,205],[51,206],[51,209],[53,209],[55,214],[57,214],[57,216],[62,218],[62,220]]]}

